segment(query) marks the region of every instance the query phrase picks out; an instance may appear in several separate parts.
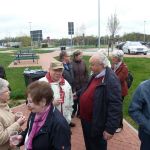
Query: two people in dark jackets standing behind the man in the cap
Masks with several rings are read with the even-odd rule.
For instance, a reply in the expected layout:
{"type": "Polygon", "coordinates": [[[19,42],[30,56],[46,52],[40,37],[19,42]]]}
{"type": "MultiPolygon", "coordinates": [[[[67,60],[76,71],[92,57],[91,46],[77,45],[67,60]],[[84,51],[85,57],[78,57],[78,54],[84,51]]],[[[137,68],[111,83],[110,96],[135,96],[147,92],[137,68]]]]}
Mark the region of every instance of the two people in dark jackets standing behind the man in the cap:
{"type": "Polygon", "coordinates": [[[66,51],[61,51],[60,61],[63,63],[63,77],[69,82],[73,92],[73,112],[72,117],[80,117],[80,105],[77,92],[80,91],[88,82],[88,68],[82,59],[82,52],[77,50],[73,53],[72,61],[66,51]]]}

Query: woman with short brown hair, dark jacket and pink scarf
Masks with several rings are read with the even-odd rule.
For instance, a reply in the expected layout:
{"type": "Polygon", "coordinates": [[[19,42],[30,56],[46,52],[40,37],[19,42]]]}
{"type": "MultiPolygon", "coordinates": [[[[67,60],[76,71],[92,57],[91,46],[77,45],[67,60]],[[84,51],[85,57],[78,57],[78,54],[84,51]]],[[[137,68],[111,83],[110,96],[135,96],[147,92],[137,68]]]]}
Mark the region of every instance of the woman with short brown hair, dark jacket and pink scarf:
{"type": "Polygon", "coordinates": [[[25,150],[71,150],[70,128],[61,112],[52,104],[49,83],[35,81],[27,87],[27,106],[31,110],[27,128],[18,135],[25,150]]]}

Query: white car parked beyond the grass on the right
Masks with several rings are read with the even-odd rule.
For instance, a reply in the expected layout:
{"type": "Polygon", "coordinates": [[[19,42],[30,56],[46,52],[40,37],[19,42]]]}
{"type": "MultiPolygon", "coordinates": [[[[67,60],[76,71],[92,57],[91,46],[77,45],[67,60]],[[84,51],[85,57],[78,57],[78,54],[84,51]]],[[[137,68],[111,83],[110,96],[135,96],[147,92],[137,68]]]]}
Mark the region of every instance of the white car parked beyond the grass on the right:
{"type": "Polygon", "coordinates": [[[124,53],[127,53],[127,54],[142,53],[144,55],[147,55],[147,52],[148,52],[148,48],[146,46],[144,46],[140,42],[136,42],[136,41],[127,41],[123,45],[122,50],[124,53]]]}

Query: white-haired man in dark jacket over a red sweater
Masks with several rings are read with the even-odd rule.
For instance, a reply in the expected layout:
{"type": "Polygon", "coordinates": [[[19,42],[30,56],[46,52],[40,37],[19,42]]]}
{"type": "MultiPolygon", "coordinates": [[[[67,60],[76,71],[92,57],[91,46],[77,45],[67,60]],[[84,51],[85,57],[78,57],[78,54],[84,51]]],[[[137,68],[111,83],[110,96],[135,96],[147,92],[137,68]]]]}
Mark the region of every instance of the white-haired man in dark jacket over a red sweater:
{"type": "Polygon", "coordinates": [[[97,52],[89,63],[93,75],[80,95],[83,135],[87,150],[106,150],[107,140],[119,127],[121,85],[104,54],[97,52]]]}

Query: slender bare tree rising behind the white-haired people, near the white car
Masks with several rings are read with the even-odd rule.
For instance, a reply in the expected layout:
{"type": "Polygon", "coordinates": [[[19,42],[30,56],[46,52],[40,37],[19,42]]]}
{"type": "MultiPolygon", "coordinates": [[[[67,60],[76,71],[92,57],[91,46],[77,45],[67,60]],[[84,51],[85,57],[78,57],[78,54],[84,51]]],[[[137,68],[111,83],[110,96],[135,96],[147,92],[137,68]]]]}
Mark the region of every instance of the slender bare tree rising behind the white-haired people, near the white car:
{"type": "Polygon", "coordinates": [[[109,32],[111,34],[111,36],[110,36],[110,43],[109,44],[111,45],[112,50],[113,50],[115,35],[117,34],[118,30],[120,29],[119,24],[120,24],[120,22],[119,22],[119,19],[118,19],[116,13],[112,14],[108,18],[107,27],[108,27],[108,30],[109,30],[109,32]]]}

